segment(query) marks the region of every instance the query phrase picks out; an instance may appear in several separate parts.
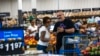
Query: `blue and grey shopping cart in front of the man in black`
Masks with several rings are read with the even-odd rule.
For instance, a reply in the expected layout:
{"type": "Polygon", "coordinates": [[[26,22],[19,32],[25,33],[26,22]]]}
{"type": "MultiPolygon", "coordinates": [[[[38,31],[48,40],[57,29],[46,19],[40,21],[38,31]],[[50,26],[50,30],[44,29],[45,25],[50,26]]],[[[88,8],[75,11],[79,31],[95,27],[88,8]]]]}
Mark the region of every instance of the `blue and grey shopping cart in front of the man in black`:
{"type": "Polygon", "coordinates": [[[80,42],[85,39],[88,40],[87,35],[81,35],[81,34],[76,34],[76,35],[67,35],[64,36],[62,39],[62,48],[60,49],[60,54],[65,54],[65,53],[76,53],[77,56],[81,56],[81,50],[79,48],[79,44],[80,42]],[[74,37],[79,37],[77,39],[77,41],[73,41],[73,42],[69,42],[69,38],[74,38],[74,37]],[[73,49],[66,49],[66,44],[74,44],[74,48],[73,49]]]}

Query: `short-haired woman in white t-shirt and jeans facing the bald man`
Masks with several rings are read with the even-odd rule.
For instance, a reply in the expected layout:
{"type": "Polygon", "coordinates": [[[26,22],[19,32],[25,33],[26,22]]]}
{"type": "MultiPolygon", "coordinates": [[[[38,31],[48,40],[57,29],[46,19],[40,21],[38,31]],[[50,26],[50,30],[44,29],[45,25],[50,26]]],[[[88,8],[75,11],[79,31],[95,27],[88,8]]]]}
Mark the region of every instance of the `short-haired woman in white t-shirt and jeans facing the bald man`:
{"type": "Polygon", "coordinates": [[[46,49],[50,40],[50,32],[48,30],[50,22],[51,20],[49,17],[44,17],[43,26],[39,28],[39,41],[37,45],[37,50],[43,50],[44,53],[47,53],[46,49]]]}

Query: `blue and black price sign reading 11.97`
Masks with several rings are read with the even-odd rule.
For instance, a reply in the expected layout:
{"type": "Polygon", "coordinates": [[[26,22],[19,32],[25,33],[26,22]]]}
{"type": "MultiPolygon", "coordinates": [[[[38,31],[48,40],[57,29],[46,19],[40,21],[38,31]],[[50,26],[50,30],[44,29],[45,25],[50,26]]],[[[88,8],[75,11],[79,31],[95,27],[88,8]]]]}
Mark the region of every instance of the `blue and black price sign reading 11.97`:
{"type": "Polygon", "coordinates": [[[21,54],[23,47],[23,28],[0,29],[0,55],[21,54]]]}

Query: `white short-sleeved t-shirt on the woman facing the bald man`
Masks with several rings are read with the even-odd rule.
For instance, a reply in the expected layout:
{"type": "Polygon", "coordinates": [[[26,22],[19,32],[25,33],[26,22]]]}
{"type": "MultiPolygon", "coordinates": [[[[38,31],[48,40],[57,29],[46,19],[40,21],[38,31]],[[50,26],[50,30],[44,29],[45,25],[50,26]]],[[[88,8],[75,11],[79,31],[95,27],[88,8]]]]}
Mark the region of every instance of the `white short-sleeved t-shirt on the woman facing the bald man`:
{"type": "Polygon", "coordinates": [[[39,41],[38,41],[38,44],[39,44],[39,45],[43,45],[43,46],[48,46],[48,42],[43,42],[43,41],[41,40],[41,38],[40,38],[41,32],[42,32],[42,31],[46,31],[45,37],[44,37],[44,38],[50,39],[50,33],[49,33],[49,31],[47,30],[47,28],[46,28],[45,26],[42,26],[42,27],[39,29],[39,41]]]}

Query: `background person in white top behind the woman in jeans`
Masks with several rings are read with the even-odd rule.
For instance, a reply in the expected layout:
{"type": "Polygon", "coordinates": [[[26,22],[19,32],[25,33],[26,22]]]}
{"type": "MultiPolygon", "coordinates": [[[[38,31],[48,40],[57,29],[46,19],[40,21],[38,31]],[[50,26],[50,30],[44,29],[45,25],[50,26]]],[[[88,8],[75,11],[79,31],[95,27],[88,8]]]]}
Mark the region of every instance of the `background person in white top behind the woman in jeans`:
{"type": "Polygon", "coordinates": [[[28,26],[28,32],[29,32],[29,34],[30,34],[30,36],[34,36],[35,37],[35,35],[36,35],[36,33],[37,33],[37,29],[38,29],[38,27],[35,25],[35,20],[34,19],[32,19],[32,20],[30,20],[30,26],[28,26]]]}

